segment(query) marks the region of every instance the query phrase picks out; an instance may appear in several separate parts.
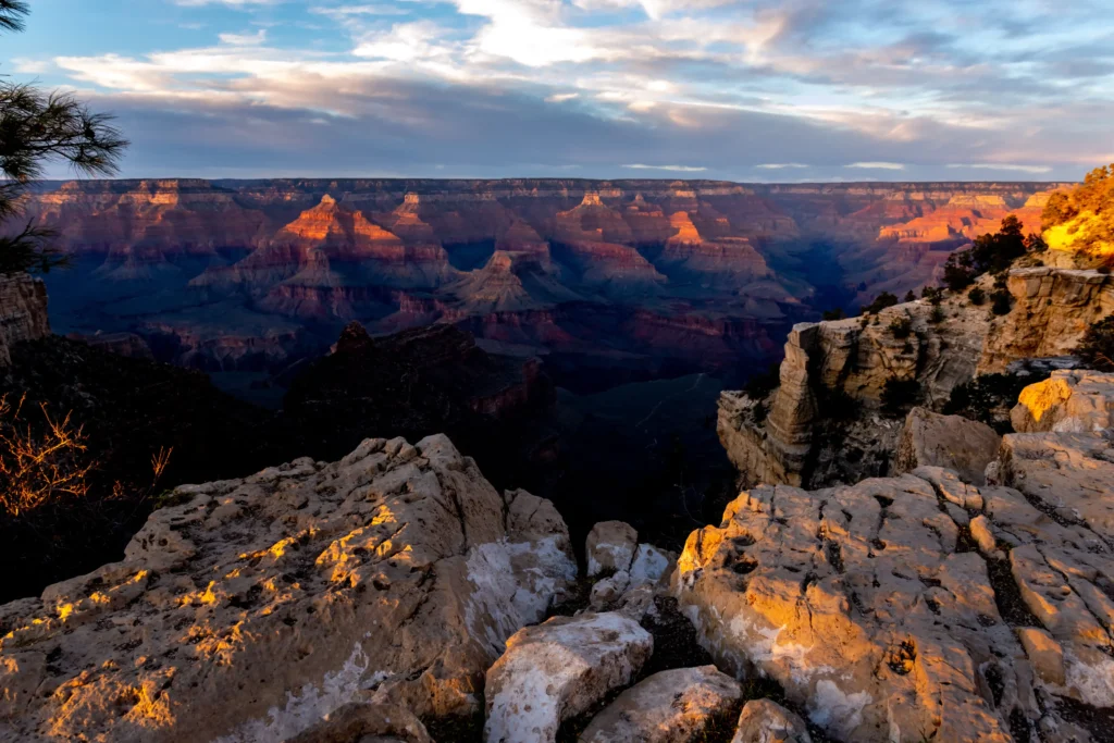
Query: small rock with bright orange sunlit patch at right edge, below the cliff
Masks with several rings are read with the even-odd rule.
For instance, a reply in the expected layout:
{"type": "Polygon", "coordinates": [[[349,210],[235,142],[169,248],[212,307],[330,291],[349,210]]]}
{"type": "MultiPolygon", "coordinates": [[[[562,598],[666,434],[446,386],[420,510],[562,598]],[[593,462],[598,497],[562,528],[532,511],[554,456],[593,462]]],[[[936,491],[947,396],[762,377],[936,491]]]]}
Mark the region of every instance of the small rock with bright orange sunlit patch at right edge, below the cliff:
{"type": "Polygon", "coordinates": [[[1010,421],[1018,433],[1087,433],[1114,426],[1114,374],[1061,370],[1022,390],[1010,421]]]}

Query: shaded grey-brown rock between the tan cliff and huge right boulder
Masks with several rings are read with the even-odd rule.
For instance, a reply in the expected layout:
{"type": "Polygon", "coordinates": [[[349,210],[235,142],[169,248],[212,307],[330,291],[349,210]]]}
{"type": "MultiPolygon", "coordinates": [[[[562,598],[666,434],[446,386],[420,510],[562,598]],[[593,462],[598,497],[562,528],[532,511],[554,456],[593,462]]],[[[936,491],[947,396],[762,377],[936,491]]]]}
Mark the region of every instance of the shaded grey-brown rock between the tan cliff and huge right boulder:
{"type": "Polygon", "coordinates": [[[942,467],[968,482],[983,485],[986,466],[998,456],[1000,444],[1001,437],[986,423],[913,408],[901,429],[895,470],[942,467]]]}

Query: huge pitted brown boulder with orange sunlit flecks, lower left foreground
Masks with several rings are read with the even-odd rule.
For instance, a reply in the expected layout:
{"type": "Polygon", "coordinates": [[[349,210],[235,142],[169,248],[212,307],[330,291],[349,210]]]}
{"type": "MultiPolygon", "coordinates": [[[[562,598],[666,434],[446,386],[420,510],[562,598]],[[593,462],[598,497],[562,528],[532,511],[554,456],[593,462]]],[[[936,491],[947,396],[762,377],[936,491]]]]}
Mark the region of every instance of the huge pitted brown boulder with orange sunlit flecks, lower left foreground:
{"type": "Polygon", "coordinates": [[[0,740],[281,741],[345,704],[477,708],[575,578],[553,506],[444,437],[179,488],[121,563],[0,607],[0,740]]]}

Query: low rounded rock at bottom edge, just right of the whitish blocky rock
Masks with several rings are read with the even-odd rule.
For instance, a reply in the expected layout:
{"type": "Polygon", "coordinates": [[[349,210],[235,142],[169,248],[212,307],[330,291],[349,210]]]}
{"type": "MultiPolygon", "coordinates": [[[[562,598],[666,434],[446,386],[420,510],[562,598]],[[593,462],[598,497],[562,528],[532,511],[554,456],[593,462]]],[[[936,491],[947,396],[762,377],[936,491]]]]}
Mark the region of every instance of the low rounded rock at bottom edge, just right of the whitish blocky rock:
{"type": "Polygon", "coordinates": [[[626,690],[596,715],[582,743],[687,743],[743,696],[715,666],[662,671],[626,690]]]}

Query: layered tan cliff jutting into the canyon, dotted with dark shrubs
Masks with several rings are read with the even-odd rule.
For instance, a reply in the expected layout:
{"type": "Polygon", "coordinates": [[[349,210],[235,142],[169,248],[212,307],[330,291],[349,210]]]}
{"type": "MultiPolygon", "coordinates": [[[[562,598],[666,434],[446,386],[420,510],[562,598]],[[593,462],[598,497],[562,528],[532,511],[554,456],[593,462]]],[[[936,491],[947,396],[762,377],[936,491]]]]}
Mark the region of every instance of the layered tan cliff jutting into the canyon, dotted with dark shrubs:
{"type": "Polygon", "coordinates": [[[1014,306],[1001,317],[952,294],[939,322],[921,300],[877,317],[794,326],[772,398],[735,392],[721,401],[717,428],[735,467],[749,482],[814,487],[885,475],[901,429],[880,414],[889,380],[915,383],[919,403],[939,410],[978,374],[1069,353],[1089,324],[1114,312],[1110,276],[1094,271],[1017,268],[1008,289],[1014,306]],[[891,330],[899,321],[909,323],[907,338],[891,330]],[[841,401],[854,410],[832,427],[841,401]],[[759,405],[769,405],[764,419],[755,417],[759,405]]]}

